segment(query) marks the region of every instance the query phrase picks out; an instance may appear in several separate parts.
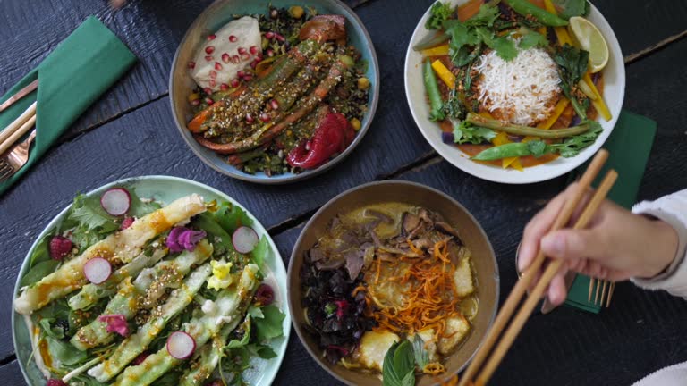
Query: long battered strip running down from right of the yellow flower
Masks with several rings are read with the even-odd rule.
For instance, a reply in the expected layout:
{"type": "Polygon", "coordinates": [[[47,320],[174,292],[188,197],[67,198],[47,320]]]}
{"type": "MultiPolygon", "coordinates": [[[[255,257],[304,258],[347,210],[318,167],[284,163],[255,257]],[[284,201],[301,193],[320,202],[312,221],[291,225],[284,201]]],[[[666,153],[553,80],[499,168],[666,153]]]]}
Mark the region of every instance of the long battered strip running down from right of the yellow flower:
{"type": "MultiPolygon", "coordinates": [[[[250,298],[258,287],[258,275],[258,265],[246,265],[237,288],[223,291],[214,302],[213,312],[193,318],[191,322],[184,324],[183,330],[193,337],[196,347],[203,346],[223,328],[233,330],[241,323],[242,315],[250,306],[250,298]]],[[[182,363],[182,360],[170,356],[166,348],[161,348],[157,353],[148,356],[140,365],[127,367],[113,384],[115,386],[145,386],[155,382],[174,366],[182,363]]]]}

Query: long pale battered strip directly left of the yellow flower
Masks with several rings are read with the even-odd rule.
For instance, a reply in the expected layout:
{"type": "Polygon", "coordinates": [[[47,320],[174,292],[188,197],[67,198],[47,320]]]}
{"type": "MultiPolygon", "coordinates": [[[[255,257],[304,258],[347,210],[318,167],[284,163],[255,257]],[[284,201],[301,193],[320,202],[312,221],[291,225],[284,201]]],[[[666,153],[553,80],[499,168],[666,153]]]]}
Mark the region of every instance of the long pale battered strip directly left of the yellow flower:
{"type": "MultiPolygon", "coordinates": [[[[172,291],[165,305],[156,309],[148,322],[140,326],[135,334],[127,337],[114,350],[112,356],[105,362],[89,370],[89,375],[96,378],[98,382],[107,382],[117,373],[121,372],[126,365],[145,351],[150,343],[165,329],[165,325],[175,315],[182,312],[189,306],[196,292],[205,284],[208,276],[212,272],[210,264],[203,264],[193,271],[180,288],[172,291]]],[[[166,352],[166,348],[163,348],[166,352]]]]}

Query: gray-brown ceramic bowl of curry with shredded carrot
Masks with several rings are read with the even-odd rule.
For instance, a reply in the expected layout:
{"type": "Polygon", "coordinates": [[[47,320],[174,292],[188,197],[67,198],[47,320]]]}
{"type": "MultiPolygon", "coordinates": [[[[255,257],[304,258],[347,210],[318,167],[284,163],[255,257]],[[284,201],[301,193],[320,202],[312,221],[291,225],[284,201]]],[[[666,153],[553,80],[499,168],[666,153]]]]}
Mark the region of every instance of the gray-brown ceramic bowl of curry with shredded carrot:
{"type": "MultiPolygon", "coordinates": [[[[293,247],[289,262],[288,287],[290,291],[288,301],[293,327],[310,356],[339,381],[360,386],[381,384],[377,375],[348,370],[342,365],[331,365],[322,357],[322,350],[318,348],[318,341],[304,329],[305,317],[301,305],[301,277],[299,273],[303,265],[305,251],[315,245],[335,215],[350,212],[360,206],[384,202],[402,202],[423,206],[442,214],[446,222],[451,223],[461,232],[462,242],[471,249],[472,264],[474,264],[477,273],[479,311],[472,321],[472,331],[468,338],[462,342],[461,348],[445,360],[446,373],[443,374],[443,377],[451,376],[462,371],[462,368],[468,364],[494,320],[498,308],[499,277],[496,256],[487,234],[465,207],[437,189],[399,180],[372,182],[347,190],[322,206],[301,231],[301,236],[293,247]]],[[[436,383],[440,379],[442,376],[425,375],[419,378],[418,385],[426,386],[436,383]]]]}

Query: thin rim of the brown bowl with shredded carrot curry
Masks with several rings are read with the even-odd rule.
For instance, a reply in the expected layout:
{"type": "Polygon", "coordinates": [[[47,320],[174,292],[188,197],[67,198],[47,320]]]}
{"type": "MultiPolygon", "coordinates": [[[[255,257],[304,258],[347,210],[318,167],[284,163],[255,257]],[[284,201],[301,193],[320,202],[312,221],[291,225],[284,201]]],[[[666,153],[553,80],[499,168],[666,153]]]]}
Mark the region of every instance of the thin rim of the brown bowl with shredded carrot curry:
{"type": "MultiPolygon", "coordinates": [[[[491,315],[488,318],[488,324],[487,324],[487,330],[486,330],[488,332],[491,329],[492,325],[494,324],[494,320],[496,319],[496,313],[497,313],[498,308],[499,308],[499,298],[501,297],[501,274],[499,273],[499,270],[498,270],[498,261],[496,260],[496,252],[494,251],[494,246],[491,244],[491,241],[488,238],[487,232],[484,231],[484,228],[482,228],[481,224],[477,221],[475,216],[473,216],[471,214],[471,212],[468,211],[468,209],[465,206],[463,206],[460,202],[458,202],[458,200],[456,200],[454,197],[449,196],[448,194],[446,194],[445,192],[443,192],[439,189],[435,189],[435,188],[429,187],[427,185],[424,185],[424,184],[421,184],[418,182],[413,182],[413,181],[408,181],[408,180],[372,181],[372,182],[368,182],[368,183],[365,183],[362,185],[358,185],[358,186],[353,187],[351,189],[346,189],[344,192],[339,193],[335,197],[332,197],[329,201],[327,201],[327,204],[325,204],[324,206],[320,206],[318,211],[315,212],[315,214],[313,214],[310,217],[308,222],[305,223],[301,233],[298,236],[298,239],[296,239],[295,244],[293,244],[291,256],[289,258],[289,266],[286,270],[286,285],[288,286],[289,290],[298,291],[298,292],[301,291],[300,287],[299,288],[294,287],[295,277],[293,275],[295,273],[293,273],[293,264],[294,264],[295,259],[299,258],[298,256],[296,256],[296,251],[300,248],[301,243],[303,242],[303,239],[305,238],[305,233],[310,230],[312,223],[315,222],[315,220],[318,219],[318,217],[320,215],[322,215],[329,208],[329,206],[335,205],[335,203],[337,201],[339,201],[341,198],[346,197],[349,194],[352,194],[353,192],[355,192],[359,189],[366,189],[366,188],[369,188],[372,186],[379,186],[379,185],[401,185],[401,186],[407,186],[407,187],[412,187],[412,188],[425,189],[425,190],[428,190],[428,191],[430,191],[434,194],[437,194],[441,197],[445,197],[452,205],[457,206],[458,208],[460,208],[463,211],[464,214],[467,214],[467,216],[471,220],[471,222],[473,222],[477,226],[479,234],[487,241],[488,250],[489,250],[490,255],[491,255],[491,261],[494,264],[494,268],[495,268],[494,274],[492,277],[494,285],[496,286],[495,302],[494,302],[494,309],[492,310],[491,315]]],[[[295,314],[293,314],[294,305],[293,305],[292,297],[288,296],[287,301],[288,301],[288,305],[289,305],[289,314],[295,315],[295,314]]],[[[302,326],[296,322],[295,317],[291,318],[291,323],[293,324],[293,330],[296,331],[296,335],[298,335],[298,339],[301,342],[301,346],[303,346],[303,348],[305,348],[306,351],[308,351],[308,354],[310,354],[310,357],[312,357],[315,360],[315,362],[322,369],[327,371],[327,373],[332,375],[336,380],[338,380],[340,382],[344,382],[347,385],[356,386],[355,383],[345,379],[344,377],[333,372],[329,367],[327,367],[327,365],[325,365],[323,362],[323,359],[320,355],[321,353],[315,352],[315,350],[310,348],[310,346],[305,343],[305,334],[307,333],[307,331],[304,331],[302,326]]],[[[472,361],[472,359],[475,357],[475,355],[477,355],[479,348],[482,347],[482,345],[484,344],[484,340],[486,338],[487,338],[486,335],[481,338],[481,340],[479,341],[479,345],[477,346],[477,348],[475,348],[474,352],[472,352],[470,358],[467,361],[465,361],[465,363],[463,363],[458,369],[454,370],[454,373],[462,372],[462,370],[465,368],[465,366],[467,366],[472,361]]]]}

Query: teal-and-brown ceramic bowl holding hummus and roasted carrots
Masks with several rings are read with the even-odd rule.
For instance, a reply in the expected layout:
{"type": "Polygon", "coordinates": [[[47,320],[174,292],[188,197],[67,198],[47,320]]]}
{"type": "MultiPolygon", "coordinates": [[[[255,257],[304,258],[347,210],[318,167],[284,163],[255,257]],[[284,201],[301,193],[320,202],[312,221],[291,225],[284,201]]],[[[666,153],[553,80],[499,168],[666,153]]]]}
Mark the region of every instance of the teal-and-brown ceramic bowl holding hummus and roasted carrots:
{"type": "Polygon", "coordinates": [[[372,118],[377,110],[377,101],[379,99],[379,66],[375,47],[372,45],[372,40],[369,38],[368,31],[362,25],[362,21],[360,21],[358,15],[353,13],[351,8],[339,0],[306,0],[301,2],[296,0],[217,0],[215,3],[208,6],[203,13],[200,13],[199,17],[193,21],[191,27],[186,31],[186,35],[182,38],[182,43],[179,45],[179,48],[177,48],[176,55],[174,55],[174,62],[172,63],[172,71],[169,77],[169,94],[170,103],[172,105],[172,115],[174,116],[174,122],[176,123],[177,129],[179,129],[183,140],[191,147],[193,153],[198,155],[200,160],[205,164],[208,164],[217,172],[224,173],[239,180],[248,180],[261,184],[283,184],[296,180],[304,180],[327,171],[335,164],[341,162],[347,155],[351,154],[353,149],[358,146],[369,129],[369,124],[372,122],[372,118]],[[232,21],[233,15],[267,13],[269,4],[278,8],[288,8],[292,5],[307,5],[318,10],[319,14],[344,15],[346,17],[348,43],[355,46],[360,51],[362,59],[369,63],[366,77],[371,83],[368,113],[363,118],[360,130],[352,144],[346,148],[344,152],[317,169],[301,172],[299,174],[284,173],[272,177],[267,177],[263,172],[249,174],[236,169],[233,165],[225,162],[225,156],[217,155],[215,152],[200,146],[191,135],[191,132],[186,130],[186,123],[189,122],[193,116],[191,113],[191,105],[189,105],[187,97],[191,94],[191,90],[196,87],[195,82],[189,75],[187,63],[191,61],[197,47],[202,45],[208,34],[215,32],[227,22],[232,21]]]}

